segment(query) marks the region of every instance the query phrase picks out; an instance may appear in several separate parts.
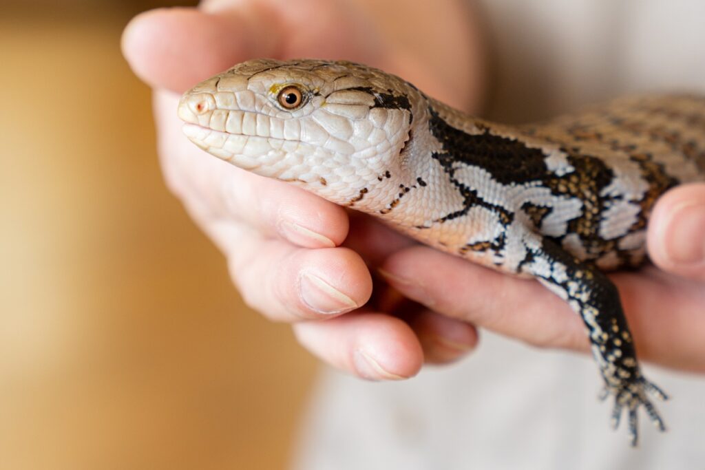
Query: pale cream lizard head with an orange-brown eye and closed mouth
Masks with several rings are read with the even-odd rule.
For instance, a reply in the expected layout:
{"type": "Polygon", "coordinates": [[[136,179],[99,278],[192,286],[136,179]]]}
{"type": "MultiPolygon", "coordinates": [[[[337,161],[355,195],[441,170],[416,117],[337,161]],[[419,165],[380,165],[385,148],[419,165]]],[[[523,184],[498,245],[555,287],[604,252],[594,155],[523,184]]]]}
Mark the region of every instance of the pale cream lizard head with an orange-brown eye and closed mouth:
{"type": "Polygon", "coordinates": [[[413,85],[356,63],[264,59],[196,85],[178,116],[205,151],[353,205],[403,165],[421,101],[413,85]]]}

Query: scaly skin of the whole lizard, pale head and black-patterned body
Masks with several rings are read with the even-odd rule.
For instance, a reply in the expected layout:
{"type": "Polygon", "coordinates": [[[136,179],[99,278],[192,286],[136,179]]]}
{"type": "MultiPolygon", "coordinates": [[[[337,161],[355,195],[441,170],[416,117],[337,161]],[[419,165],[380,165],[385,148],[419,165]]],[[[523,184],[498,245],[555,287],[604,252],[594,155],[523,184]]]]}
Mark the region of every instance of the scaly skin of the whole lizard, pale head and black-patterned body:
{"type": "Polygon", "coordinates": [[[241,63],[184,94],[186,135],[240,168],[373,214],[446,252],[536,278],[582,316],[614,425],[664,426],[617,289],[660,194],[704,179],[705,99],[642,96],[548,123],[467,116],[349,62],[241,63]],[[282,95],[300,92],[290,109],[282,95]]]}

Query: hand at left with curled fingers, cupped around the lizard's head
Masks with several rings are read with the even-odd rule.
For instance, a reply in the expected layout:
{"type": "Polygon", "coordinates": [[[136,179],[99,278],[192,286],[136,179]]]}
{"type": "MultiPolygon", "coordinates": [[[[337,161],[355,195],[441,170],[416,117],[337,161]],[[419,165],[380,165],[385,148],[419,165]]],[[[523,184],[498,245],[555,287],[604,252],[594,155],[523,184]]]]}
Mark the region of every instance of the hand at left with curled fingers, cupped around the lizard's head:
{"type": "Polygon", "coordinates": [[[123,35],[130,66],[155,89],[166,182],[226,254],[245,302],[293,323],[305,347],[366,378],[405,378],[424,358],[456,359],[474,346],[477,332],[465,321],[398,302],[381,283],[367,302],[373,280],[366,262],[374,268],[413,242],[369,217],[349,220],[340,206],[205,154],[182,135],[173,92],[253,57],[347,58],[472,109],[481,97],[482,54],[460,4],[209,1],[201,11],[145,13],[123,35]],[[396,20],[399,11],[404,22],[396,20]]]}

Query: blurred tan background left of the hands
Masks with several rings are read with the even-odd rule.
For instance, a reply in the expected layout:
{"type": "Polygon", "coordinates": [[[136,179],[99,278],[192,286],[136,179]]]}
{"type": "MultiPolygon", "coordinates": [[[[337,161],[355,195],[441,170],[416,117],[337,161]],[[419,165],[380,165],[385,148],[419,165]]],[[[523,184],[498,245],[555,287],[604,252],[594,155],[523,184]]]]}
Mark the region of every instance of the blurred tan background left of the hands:
{"type": "Polygon", "coordinates": [[[292,450],[315,361],[168,194],[120,54],[159,4],[0,1],[1,470],[282,469],[292,450]]]}

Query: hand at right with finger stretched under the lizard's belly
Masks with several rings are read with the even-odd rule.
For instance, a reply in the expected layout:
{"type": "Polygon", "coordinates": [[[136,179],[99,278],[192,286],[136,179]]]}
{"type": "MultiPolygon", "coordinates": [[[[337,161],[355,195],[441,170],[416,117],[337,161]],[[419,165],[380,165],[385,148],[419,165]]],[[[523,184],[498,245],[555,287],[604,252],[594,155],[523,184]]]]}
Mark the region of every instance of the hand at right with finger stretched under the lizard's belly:
{"type": "MultiPolygon", "coordinates": [[[[648,250],[656,266],[610,276],[639,357],[705,372],[705,183],[661,197],[649,221],[648,250]]],[[[534,280],[420,246],[392,254],[381,267],[403,295],[450,318],[539,347],[589,351],[580,316],[534,280]]]]}

